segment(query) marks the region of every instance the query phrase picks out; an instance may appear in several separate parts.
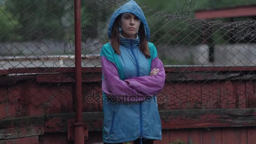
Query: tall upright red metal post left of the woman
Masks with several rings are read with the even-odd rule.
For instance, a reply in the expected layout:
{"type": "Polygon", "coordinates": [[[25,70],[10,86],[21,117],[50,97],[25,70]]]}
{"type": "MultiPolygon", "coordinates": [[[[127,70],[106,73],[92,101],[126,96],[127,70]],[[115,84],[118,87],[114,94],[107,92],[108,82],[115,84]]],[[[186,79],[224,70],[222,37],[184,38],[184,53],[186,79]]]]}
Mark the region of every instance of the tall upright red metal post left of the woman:
{"type": "Polygon", "coordinates": [[[76,116],[74,123],[74,140],[75,144],[84,144],[81,75],[81,0],[75,0],[75,87],[76,116]]]}

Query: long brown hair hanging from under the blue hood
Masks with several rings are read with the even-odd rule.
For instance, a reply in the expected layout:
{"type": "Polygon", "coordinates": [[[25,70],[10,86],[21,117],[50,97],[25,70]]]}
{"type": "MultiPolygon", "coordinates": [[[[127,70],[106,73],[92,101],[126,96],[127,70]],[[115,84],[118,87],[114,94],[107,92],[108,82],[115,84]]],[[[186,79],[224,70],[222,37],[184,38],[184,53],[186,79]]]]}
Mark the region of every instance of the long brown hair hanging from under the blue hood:
{"type": "MultiPolygon", "coordinates": [[[[115,19],[115,22],[112,27],[111,39],[110,39],[110,44],[111,44],[112,48],[114,49],[115,53],[117,53],[117,54],[121,53],[121,51],[119,49],[119,46],[120,46],[119,24],[121,21],[121,17],[122,17],[122,14],[117,16],[117,18],[115,19]]],[[[144,24],[142,22],[139,26],[139,37],[140,37],[139,49],[149,59],[151,56],[150,56],[150,52],[149,52],[149,46],[147,43],[147,37],[146,37],[145,29],[144,29],[144,24]]]]}

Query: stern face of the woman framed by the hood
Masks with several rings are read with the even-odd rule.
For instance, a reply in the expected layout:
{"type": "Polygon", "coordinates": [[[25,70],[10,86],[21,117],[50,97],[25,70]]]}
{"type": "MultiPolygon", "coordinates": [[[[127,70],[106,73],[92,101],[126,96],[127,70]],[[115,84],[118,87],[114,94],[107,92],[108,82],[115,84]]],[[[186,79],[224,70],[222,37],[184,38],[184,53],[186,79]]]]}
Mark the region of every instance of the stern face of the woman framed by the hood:
{"type": "Polygon", "coordinates": [[[121,35],[125,38],[136,38],[141,20],[132,13],[123,13],[121,17],[121,35]]]}

